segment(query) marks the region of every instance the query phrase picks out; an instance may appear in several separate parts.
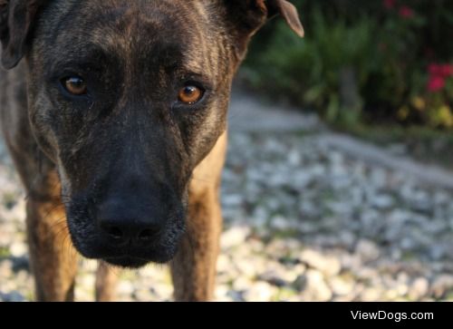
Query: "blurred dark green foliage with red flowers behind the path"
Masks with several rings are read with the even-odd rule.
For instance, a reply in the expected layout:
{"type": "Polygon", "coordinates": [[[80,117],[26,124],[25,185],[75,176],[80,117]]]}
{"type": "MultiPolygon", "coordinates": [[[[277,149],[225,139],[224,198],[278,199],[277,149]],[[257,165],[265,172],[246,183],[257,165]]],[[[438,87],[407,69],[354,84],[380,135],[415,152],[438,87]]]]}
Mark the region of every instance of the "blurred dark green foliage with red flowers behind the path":
{"type": "Polygon", "coordinates": [[[280,20],[267,26],[246,61],[252,87],[342,125],[453,127],[453,2],[293,3],[307,35],[297,38],[280,20]]]}

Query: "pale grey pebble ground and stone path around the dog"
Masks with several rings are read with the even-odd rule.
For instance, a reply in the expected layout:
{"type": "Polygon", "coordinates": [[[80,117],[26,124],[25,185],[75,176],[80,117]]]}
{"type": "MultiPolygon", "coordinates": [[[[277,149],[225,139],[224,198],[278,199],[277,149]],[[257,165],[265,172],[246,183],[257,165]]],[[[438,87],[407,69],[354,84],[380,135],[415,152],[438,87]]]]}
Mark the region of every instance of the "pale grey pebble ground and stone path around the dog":
{"type": "MultiPolygon", "coordinates": [[[[453,300],[453,175],[237,94],[219,301],[453,300]]],[[[0,158],[1,159],[1,158],[0,158]]],[[[24,197],[0,164],[0,300],[30,300],[24,197]]],[[[95,262],[81,260],[78,300],[95,262]]],[[[170,300],[168,271],[118,271],[120,300],[170,300]]]]}

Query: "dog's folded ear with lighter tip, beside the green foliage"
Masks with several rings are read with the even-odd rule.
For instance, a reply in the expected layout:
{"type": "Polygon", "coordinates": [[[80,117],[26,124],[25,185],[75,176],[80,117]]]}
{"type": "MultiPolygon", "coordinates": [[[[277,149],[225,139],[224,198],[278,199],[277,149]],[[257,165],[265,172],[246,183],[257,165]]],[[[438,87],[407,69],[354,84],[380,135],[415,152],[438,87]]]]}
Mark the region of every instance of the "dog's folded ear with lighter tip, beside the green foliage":
{"type": "Polygon", "coordinates": [[[222,0],[226,6],[228,22],[233,24],[239,37],[241,48],[246,48],[249,38],[262,27],[265,22],[281,15],[291,29],[299,36],[304,36],[297,9],[285,0],[222,0]]]}

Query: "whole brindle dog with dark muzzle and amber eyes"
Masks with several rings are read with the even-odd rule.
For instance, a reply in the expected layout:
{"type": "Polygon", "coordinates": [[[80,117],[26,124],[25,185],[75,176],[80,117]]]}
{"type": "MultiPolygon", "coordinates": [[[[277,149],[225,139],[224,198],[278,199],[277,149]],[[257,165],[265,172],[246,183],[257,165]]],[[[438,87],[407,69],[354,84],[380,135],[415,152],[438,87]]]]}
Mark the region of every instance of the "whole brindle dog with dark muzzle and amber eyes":
{"type": "Polygon", "coordinates": [[[175,298],[212,298],[231,83],[284,0],[0,0],[5,140],[27,191],[40,301],[71,301],[75,250],[170,262],[175,298]],[[71,239],[69,239],[69,236],[71,239]],[[71,240],[71,242],[69,242],[71,240]],[[72,252],[73,251],[73,252],[72,252]]]}

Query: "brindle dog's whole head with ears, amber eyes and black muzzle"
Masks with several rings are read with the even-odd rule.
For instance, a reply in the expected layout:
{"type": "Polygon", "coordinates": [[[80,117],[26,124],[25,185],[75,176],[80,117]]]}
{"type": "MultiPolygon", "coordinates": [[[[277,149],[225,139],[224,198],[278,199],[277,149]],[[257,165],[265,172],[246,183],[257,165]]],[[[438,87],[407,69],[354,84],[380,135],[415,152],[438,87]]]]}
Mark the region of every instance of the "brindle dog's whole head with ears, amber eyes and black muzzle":
{"type": "Polygon", "coordinates": [[[284,0],[0,0],[2,63],[28,67],[35,139],[83,256],[167,262],[192,170],[226,130],[250,37],[284,0]]]}

